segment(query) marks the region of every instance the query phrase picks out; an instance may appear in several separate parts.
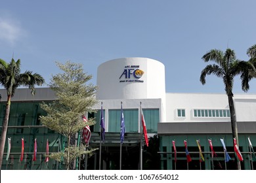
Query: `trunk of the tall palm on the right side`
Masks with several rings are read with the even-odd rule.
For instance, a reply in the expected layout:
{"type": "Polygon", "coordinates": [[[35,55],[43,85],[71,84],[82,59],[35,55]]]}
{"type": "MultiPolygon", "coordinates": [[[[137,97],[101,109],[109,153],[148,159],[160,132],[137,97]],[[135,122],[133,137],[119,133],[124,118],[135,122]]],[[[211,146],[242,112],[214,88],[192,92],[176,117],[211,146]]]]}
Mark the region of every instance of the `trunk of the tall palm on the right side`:
{"type": "MultiPolygon", "coordinates": [[[[232,95],[228,95],[228,105],[229,105],[229,109],[230,109],[232,137],[236,138],[236,143],[238,144],[238,125],[236,124],[236,111],[234,108],[234,101],[233,101],[232,95]]],[[[234,146],[234,141],[233,141],[233,146],[234,146]]],[[[236,152],[234,152],[234,153],[236,154],[236,152]]],[[[238,161],[238,170],[241,170],[240,161],[238,161]]]]}

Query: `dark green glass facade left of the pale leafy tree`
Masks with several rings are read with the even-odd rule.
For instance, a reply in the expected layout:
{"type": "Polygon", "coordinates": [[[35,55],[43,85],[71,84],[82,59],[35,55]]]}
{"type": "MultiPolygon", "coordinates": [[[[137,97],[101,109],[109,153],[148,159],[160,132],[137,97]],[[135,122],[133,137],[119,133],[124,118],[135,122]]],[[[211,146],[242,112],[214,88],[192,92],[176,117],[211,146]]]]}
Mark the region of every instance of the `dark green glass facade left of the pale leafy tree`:
{"type": "MultiPolygon", "coordinates": [[[[5,108],[5,103],[0,103],[1,126],[5,117],[5,108]]],[[[6,139],[2,169],[58,169],[56,161],[45,163],[47,139],[49,141],[49,153],[51,153],[58,152],[61,137],[41,125],[39,116],[44,115],[46,113],[40,108],[39,102],[11,103],[7,129],[7,139],[11,138],[11,153],[6,161],[6,139]],[[24,139],[24,159],[20,161],[22,138],[24,139]],[[36,161],[32,161],[35,139],[37,139],[37,156],[36,161]]]]}

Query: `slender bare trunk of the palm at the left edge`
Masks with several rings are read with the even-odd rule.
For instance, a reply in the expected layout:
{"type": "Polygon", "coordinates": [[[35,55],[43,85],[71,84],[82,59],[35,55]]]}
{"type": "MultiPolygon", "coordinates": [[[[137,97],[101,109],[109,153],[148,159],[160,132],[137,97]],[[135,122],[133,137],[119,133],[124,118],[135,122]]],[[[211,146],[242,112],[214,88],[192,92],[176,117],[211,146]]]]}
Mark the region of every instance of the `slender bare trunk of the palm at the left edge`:
{"type": "Polygon", "coordinates": [[[6,109],[5,109],[5,120],[3,120],[1,143],[0,143],[0,170],[2,168],[2,163],[3,163],[3,152],[5,150],[5,140],[6,140],[7,128],[8,128],[8,122],[9,122],[10,105],[11,105],[11,95],[8,95],[6,109]]]}

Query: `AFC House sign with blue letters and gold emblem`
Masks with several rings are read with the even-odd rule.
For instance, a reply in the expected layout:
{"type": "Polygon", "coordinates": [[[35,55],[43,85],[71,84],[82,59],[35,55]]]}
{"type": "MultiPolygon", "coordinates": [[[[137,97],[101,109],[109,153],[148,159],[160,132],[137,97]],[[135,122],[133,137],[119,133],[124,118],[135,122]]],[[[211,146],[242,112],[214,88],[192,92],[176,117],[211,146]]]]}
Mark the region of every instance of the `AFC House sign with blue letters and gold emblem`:
{"type": "Polygon", "coordinates": [[[144,71],[139,69],[139,65],[127,65],[123,69],[123,73],[119,77],[119,82],[144,82],[139,78],[144,74],[144,71]]]}

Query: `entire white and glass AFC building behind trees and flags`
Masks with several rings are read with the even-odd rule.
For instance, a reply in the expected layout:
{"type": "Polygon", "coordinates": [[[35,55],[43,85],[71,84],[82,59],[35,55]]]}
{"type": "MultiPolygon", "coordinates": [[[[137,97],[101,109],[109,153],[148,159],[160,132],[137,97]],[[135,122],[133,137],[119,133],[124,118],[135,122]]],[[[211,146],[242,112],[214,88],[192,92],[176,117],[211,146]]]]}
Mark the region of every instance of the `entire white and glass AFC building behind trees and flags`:
{"type": "MultiPolygon", "coordinates": [[[[141,114],[143,112],[148,137],[158,135],[159,167],[154,169],[236,169],[237,159],[230,125],[228,99],[224,93],[166,93],[165,67],[155,59],[120,58],[106,61],[98,66],[96,98],[98,112],[91,126],[89,147],[99,148],[88,159],[81,158],[79,169],[141,169],[146,168],[147,152],[142,136],[141,114]],[[106,138],[100,142],[100,108],[103,108],[106,138]],[[121,107],[125,121],[125,137],[120,146],[121,107]],[[142,111],[142,112],[141,112],[142,111]],[[211,158],[211,140],[217,156],[211,158]],[[223,144],[230,155],[224,161],[223,144]],[[175,142],[176,153],[173,146],[175,142]],[[184,141],[192,158],[187,162],[184,141]],[[203,160],[200,160],[200,150],[203,160]],[[121,160],[120,160],[121,154],[121,160]],[[175,158],[176,154],[176,158],[175,158]],[[120,163],[121,161],[121,163],[120,163]],[[100,167],[99,167],[100,165],[100,167]],[[142,166],[143,165],[143,166],[142,166]]],[[[0,105],[1,123],[5,111],[5,90],[0,105]]],[[[11,154],[3,161],[6,169],[61,169],[60,163],[44,161],[45,144],[49,139],[49,152],[58,152],[64,146],[61,135],[43,127],[38,118],[45,115],[39,107],[42,101],[51,102],[54,93],[49,88],[37,88],[33,97],[27,89],[18,89],[12,98],[7,138],[11,138],[11,154]],[[20,139],[24,138],[24,160],[20,161],[20,139]],[[33,141],[37,139],[38,158],[33,158],[33,141]]],[[[242,169],[253,169],[248,137],[256,146],[256,95],[234,95],[238,121],[239,148],[244,158],[242,169]]],[[[154,138],[150,138],[152,140],[154,138]]],[[[153,141],[153,140],[152,140],[153,141]]],[[[7,143],[6,143],[7,144],[7,143]]],[[[5,147],[5,156],[7,145],[5,147]]],[[[256,167],[255,167],[256,168],[256,167]]],[[[3,168],[4,169],[4,168],[3,168]]]]}

